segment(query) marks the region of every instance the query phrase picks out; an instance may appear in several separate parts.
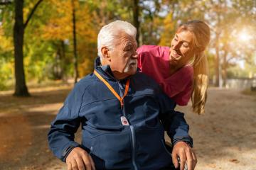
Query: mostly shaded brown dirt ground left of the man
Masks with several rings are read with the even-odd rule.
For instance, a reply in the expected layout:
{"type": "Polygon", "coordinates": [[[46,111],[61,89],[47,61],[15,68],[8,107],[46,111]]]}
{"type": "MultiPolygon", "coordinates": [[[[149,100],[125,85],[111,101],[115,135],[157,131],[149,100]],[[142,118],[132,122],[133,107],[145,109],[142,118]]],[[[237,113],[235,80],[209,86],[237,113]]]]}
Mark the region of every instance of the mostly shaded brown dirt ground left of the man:
{"type": "Polygon", "coordinates": [[[47,133],[70,89],[0,96],[0,169],[44,169],[55,157],[47,133]]]}

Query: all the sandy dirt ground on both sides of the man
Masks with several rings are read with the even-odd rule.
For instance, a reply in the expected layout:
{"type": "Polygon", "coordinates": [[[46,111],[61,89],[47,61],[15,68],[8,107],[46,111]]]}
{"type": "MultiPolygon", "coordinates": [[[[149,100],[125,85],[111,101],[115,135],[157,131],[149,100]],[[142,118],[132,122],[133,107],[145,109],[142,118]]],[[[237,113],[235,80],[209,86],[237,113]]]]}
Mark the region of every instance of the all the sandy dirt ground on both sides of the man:
{"type": "MultiPolygon", "coordinates": [[[[31,98],[0,92],[0,169],[66,169],[48,149],[50,122],[70,86],[31,89],[31,98]]],[[[206,115],[186,113],[197,170],[256,170],[256,96],[237,90],[209,89],[206,115]]],[[[77,135],[80,141],[80,135],[77,135]]]]}

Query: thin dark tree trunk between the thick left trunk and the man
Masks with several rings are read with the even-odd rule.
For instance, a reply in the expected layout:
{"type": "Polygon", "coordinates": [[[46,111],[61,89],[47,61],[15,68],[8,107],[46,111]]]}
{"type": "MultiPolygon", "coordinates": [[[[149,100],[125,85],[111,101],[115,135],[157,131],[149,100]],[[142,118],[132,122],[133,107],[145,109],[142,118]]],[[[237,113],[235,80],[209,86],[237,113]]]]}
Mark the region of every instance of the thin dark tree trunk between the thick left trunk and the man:
{"type": "Polygon", "coordinates": [[[75,67],[75,84],[78,82],[78,54],[77,54],[77,44],[76,44],[76,30],[75,30],[75,0],[72,1],[73,10],[73,44],[74,44],[74,67],[75,67]]]}

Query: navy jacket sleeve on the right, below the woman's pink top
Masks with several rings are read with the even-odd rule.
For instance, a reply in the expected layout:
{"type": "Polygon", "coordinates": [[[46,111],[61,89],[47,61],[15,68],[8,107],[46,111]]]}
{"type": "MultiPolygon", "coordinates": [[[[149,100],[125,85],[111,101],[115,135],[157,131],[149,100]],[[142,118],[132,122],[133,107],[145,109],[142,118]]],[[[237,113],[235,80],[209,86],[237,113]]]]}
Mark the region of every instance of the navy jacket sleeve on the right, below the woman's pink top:
{"type": "Polygon", "coordinates": [[[164,93],[159,94],[159,104],[161,108],[160,120],[164,125],[164,130],[171,138],[173,145],[176,142],[188,142],[193,147],[193,139],[188,135],[189,125],[186,123],[184,114],[174,111],[176,103],[164,93]]]}

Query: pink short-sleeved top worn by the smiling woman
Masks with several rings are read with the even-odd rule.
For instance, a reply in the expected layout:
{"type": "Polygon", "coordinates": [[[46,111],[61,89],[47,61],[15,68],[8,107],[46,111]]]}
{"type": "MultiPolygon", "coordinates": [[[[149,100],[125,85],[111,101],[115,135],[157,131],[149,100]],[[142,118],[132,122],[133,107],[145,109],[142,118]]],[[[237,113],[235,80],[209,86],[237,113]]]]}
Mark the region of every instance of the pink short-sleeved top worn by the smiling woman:
{"type": "Polygon", "coordinates": [[[186,66],[170,74],[169,47],[142,45],[137,49],[141,72],[155,79],[164,92],[180,106],[186,106],[193,86],[193,67],[186,66]]]}

